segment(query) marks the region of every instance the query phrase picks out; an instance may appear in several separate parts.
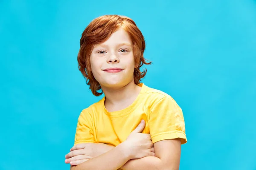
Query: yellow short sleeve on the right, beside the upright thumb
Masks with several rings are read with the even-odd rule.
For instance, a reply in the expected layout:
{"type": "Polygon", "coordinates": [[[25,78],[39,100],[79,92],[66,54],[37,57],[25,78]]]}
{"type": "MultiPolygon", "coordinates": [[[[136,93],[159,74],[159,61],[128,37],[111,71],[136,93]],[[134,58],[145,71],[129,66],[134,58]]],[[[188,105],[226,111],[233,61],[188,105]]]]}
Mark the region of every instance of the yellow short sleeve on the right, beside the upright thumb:
{"type": "Polygon", "coordinates": [[[149,114],[148,128],[153,143],[177,138],[181,144],[187,142],[182,110],[171,96],[153,104],[149,114]]]}

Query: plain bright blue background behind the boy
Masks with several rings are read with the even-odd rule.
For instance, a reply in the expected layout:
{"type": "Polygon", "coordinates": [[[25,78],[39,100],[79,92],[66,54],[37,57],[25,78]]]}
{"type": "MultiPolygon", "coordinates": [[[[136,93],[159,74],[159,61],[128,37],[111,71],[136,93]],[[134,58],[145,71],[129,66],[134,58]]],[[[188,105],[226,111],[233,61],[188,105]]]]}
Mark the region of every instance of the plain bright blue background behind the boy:
{"type": "Polygon", "coordinates": [[[131,17],[143,82],[183,109],[180,170],[256,170],[256,0],[0,0],[0,170],[64,170],[82,109],[101,97],[78,70],[84,28],[131,17]]]}

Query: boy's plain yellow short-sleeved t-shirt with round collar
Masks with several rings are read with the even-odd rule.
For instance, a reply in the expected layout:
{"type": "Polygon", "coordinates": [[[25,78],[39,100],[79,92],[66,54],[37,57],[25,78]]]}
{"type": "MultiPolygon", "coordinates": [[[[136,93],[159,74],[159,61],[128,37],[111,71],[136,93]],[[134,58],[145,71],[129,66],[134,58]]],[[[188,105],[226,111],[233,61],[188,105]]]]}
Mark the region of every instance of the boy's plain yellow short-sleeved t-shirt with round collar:
{"type": "Polygon", "coordinates": [[[149,88],[143,83],[137,99],[121,111],[108,112],[104,100],[84,109],[78,119],[75,144],[93,142],[112,146],[124,142],[145,120],[142,133],[149,133],[152,142],[180,138],[187,142],[185,123],[181,108],[174,99],[162,91],[149,88]]]}

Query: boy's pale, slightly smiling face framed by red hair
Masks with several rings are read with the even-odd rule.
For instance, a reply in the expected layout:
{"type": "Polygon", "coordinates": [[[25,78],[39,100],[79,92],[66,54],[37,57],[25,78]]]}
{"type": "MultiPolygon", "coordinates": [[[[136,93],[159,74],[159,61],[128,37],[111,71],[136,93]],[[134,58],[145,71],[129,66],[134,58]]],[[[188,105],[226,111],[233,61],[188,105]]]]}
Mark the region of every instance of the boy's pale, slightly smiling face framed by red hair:
{"type": "Polygon", "coordinates": [[[108,40],[94,46],[90,55],[94,78],[101,87],[122,87],[134,79],[134,54],[128,33],[120,28],[108,40]]]}

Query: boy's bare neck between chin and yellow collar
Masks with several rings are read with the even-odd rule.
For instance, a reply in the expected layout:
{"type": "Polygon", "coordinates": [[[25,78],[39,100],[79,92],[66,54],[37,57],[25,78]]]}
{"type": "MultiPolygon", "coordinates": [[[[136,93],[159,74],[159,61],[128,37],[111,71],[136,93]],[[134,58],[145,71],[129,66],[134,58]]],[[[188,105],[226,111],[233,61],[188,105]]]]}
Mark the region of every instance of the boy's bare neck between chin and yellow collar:
{"type": "Polygon", "coordinates": [[[105,108],[109,111],[119,111],[131,105],[140,94],[141,87],[134,80],[122,88],[102,88],[105,94],[105,108]]]}

